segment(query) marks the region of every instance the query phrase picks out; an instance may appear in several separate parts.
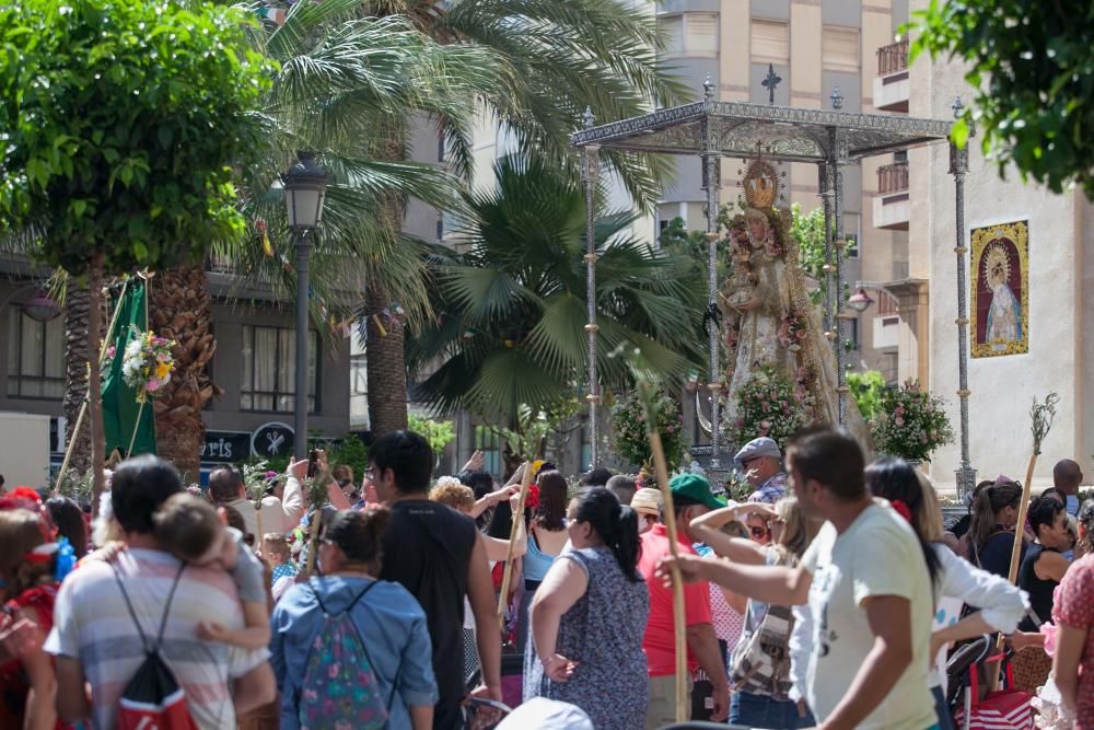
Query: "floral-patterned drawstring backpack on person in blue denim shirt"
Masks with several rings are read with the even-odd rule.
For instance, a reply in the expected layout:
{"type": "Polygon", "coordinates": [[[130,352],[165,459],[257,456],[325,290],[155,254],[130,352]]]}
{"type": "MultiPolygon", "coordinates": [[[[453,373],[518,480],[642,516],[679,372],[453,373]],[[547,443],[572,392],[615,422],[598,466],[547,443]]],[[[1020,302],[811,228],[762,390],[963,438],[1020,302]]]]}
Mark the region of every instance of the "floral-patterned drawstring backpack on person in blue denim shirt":
{"type": "Polygon", "coordinates": [[[316,579],[309,582],[323,611],[323,625],[312,639],[300,685],[301,730],[382,730],[387,726],[395,687],[385,703],[364,641],[350,618],[353,606],[379,582],[369,583],[337,614],[323,605],[316,579]]]}

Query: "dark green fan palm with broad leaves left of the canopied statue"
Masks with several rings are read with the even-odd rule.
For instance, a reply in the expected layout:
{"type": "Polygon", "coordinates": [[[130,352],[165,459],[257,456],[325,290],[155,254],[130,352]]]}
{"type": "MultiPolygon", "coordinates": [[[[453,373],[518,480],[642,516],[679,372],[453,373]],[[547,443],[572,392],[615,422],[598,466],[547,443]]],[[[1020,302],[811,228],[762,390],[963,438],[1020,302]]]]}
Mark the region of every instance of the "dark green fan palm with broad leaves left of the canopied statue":
{"type": "MultiPolygon", "coordinates": [[[[586,363],[585,202],[580,186],[542,157],[494,165],[496,190],[468,194],[472,246],[437,247],[438,316],[407,348],[411,367],[440,362],[421,383],[439,412],[467,409],[516,428],[522,404],[572,396],[586,363]]],[[[597,337],[602,382],[626,387],[619,345],[642,349],[651,368],[682,378],[702,355],[694,336],[705,294],[688,283],[687,257],[625,234],[628,211],[596,221],[597,337]]]]}

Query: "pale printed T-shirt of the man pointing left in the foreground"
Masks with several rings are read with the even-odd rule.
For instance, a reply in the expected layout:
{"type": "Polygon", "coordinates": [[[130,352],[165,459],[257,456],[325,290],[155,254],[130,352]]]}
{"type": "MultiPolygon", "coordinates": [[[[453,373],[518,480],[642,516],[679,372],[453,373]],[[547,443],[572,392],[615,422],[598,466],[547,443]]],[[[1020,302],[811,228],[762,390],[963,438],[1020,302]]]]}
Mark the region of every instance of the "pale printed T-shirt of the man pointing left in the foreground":
{"type": "Polygon", "coordinates": [[[863,601],[898,595],[911,603],[912,661],[859,728],[926,730],[938,722],[927,684],[934,601],[911,526],[893,510],[871,505],[841,534],[826,522],[801,566],[813,573],[814,650],[806,684],[816,718],[824,721],[833,714],[873,649],[863,601]]]}

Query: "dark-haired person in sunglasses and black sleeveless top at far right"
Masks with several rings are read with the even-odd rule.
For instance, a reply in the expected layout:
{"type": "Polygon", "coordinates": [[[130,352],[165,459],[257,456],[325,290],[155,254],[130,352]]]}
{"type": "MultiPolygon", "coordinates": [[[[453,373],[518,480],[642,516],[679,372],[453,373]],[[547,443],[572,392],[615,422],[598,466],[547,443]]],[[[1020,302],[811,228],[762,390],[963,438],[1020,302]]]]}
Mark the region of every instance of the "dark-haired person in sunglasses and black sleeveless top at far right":
{"type": "Polygon", "coordinates": [[[1040,624],[1052,619],[1052,591],[1068,570],[1068,560],[1060,555],[1071,542],[1068,514],[1054,497],[1038,497],[1029,505],[1029,526],[1037,535],[1036,544],[1026,551],[1019,570],[1019,588],[1029,594],[1029,607],[1037,621],[1026,616],[1019,629],[1036,631],[1040,624]]]}

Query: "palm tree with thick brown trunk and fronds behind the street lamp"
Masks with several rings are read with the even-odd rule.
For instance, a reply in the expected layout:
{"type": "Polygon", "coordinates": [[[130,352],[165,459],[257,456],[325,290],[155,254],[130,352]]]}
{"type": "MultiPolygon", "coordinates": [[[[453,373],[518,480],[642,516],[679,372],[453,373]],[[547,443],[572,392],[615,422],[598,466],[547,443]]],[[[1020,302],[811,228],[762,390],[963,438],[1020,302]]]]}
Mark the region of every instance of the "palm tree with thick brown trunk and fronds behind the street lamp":
{"type": "MultiPolygon", "coordinates": [[[[242,171],[244,205],[256,224],[246,237],[214,243],[213,255],[233,262],[241,286],[292,298],[294,257],[279,175],[295,150],[312,150],[331,176],[312,258],[315,320],[349,313],[358,302],[346,292],[372,291],[377,282],[421,318],[429,308],[424,263],[397,233],[401,215],[385,216],[411,196],[458,206],[458,181],[401,154],[385,160],[382,140],[401,134],[415,115],[444,118],[463,135],[476,96],[497,85],[499,65],[484,49],[431,40],[406,18],[365,16],[360,0],[299,2],[283,24],[267,22],[252,39],[280,63],[257,118],[267,149],[260,164],[242,171]],[[263,231],[272,255],[264,251],[263,231]]],[[[178,343],[176,374],[155,404],[160,453],[196,475],[201,409],[217,393],[207,372],[216,341],[203,266],[158,277],[151,310],[155,326],[178,343]]]]}

